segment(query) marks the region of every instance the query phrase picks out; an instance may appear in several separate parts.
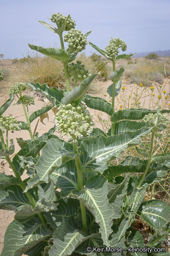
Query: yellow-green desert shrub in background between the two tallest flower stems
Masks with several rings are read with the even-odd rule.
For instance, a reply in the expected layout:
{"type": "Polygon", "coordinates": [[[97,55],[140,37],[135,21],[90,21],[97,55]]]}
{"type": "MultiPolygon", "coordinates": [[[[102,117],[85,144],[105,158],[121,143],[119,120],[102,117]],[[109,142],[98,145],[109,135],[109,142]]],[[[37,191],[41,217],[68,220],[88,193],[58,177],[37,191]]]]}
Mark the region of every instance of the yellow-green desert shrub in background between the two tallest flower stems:
{"type": "Polygon", "coordinates": [[[108,79],[108,67],[107,67],[107,62],[104,62],[101,58],[100,55],[96,54],[93,52],[93,54],[90,56],[91,60],[93,61],[95,68],[97,72],[101,72],[101,78],[102,80],[107,80],[108,79]]]}

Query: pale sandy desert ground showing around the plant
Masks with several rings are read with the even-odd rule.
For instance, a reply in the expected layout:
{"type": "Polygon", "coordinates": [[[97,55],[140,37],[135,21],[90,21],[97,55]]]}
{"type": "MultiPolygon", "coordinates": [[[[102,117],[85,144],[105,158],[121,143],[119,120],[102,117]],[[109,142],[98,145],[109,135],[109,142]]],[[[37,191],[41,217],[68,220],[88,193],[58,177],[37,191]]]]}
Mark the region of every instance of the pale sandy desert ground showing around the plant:
{"type": "MultiPolygon", "coordinates": [[[[12,66],[13,65],[11,64],[11,68],[12,68],[12,66]]],[[[166,80],[165,80],[165,82],[166,82],[166,80]]],[[[102,90],[100,91],[100,93],[97,93],[96,95],[93,95],[93,96],[100,96],[100,97],[102,96],[103,97],[104,93],[107,93],[106,92],[107,88],[108,88],[108,86],[111,83],[112,82],[110,80],[108,80],[106,82],[99,82],[100,88],[102,88],[102,90]]],[[[155,85],[155,87],[158,86],[158,84],[153,84],[153,86],[154,85],[155,85]]],[[[126,84],[126,81],[123,80],[122,81],[122,86],[124,86],[126,89],[125,89],[124,92],[121,90],[121,94],[123,95],[123,93],[124,93],[124,97],[127,97],[127,102],[128,102],[128,95],[129,95],[129,92],[134,88],[134,84],[126,84]]],[[[166,90],[166,92],[170,92],[169,84],[166,84],[164,89],[166,90]]],[[[139,88],[139,90],[140,90],[140,88],[139,88]]],[[[157,99],[157,96],[159,95],[158,90],[155,90],[154,93],[155,93],[155,98],[157,99]]],[[[29,92],[27,92],[27,94],[29,94],[29,92]]],[[[0,106],[2,104],[4,104],[6,99],[8,99],[8,95],[0,94],[0,106]]],[[[108,94],[106,96],[106,99],[107,100],[109,99],[108,94]]],[[[17,101],[17,99],[15,99],[13,101],[13,103],[7,109],[7,111],[4,113],[4,115],[9,115],[10,114],[11,116],[15,116],[15,118],[18,121],[22,120],[22,121],[26,122],[22,106],[21,105],[13,105],[13,104],[16,103],[16,101],[17,101]]],[[[141,99],[141,103],[143,103],[143,101],[144,101],[144,98],[141,99]]],[[[118,109],[120,107],[119,106],[120,104],[121,104],[121,101],[118,98],[116,100],[116,105],[117,105],[118,109]]],[[[149,100],[147,99],[146,100],[146,108],[148,107],[148,104],[149,104],[149,100]]],[[[38,96],[35,96],[35,105],[31,106],[30,114],[35,112],[36,110],[38,110],[39,108],[41,108],[42,106],[45,106],[45,105],[46,105],[46,102],[40,100],[40,98],[38,96]]],[[[98,115],[98,112],[95,112],[94,110],[93,110],[93,113],[95,115],[98,115]]],[[[54,122],[53,122],[53,116],[54,115],[53,115],[53,112],[49,111],[48,114],[49,114],[49,121],[47,119],[45,119],[44,120],[45,125],[39,122],[38,129],[37,129],[37,131],[39,132],[39,136],[41,136],[43,133],[47,132],[50,128],[52,128],[54,126],[54,122]]],[[[106,119],[107,116],[103,115],[102,118],[106,119]]],[[[37,123],[37,120],[38,120],[38,118],[31,123],[32,131],[34,131],[35,125],[37,123]]],[[[97,127],[101,127],[101,124],[97,123],[97,127]]],[[[57,135],[57,133],[55,133],[55,134],[57,135]]],[[[9,132],[9,136],[8,137],[10,139],[14,139],[15,153],[17,153],[20,150],[20,147],[17,144],[16,138],[22,137],[24,140],[27,140],[27,139],[30,138],[28,131],[14,132],[13,134],[9,132]]],[[[13,175],[13,172],[10,170],[8,164],[6,164],[3,169],[1,169],[1,172],[5,172],[7,175],[13,175]]],[[[24,173],[23,174],[23,179],[25,179],[26,176],[27,176],[27,174],[24,173]]],[[[12,222],[13,219],[14,219],[14,212],[6,211],[6,210],[0,210],[0,253],[1,253],[2,248],[4,246],[3,243],[4,243],[4,234],[5,234],[6,228],[8,227],[8,224],[10,224],[12,222]]]]}

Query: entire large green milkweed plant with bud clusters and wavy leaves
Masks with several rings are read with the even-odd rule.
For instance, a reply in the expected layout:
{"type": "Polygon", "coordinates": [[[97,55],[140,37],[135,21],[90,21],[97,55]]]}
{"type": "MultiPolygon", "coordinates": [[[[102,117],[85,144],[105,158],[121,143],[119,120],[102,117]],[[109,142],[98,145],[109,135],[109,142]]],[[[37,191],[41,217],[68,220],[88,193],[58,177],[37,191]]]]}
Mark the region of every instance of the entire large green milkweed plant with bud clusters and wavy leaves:
{"type": "Polygon", "coordinates": [[[98,74],[90,74],[75,59],[85,49],[91,32],[83,34],[75,29],[70,15],[54,13],[50,20],[55,26],[40,23],[58,34],[61,49],[28,45],[62,62],[66,90],[47,84],[17,83],[9,89],[10,99],[0,107],[0,158],[8,162],[15,175],[0,173],[0,209],[15,211],[1,256],[170,255],[161,248],[170,232],[170,206],[161,200],[144,200],[147,187],[162,180],[170,168],[170,153],[154,152],[155,132],[170,125],[170,111],[158,107],[115,112],[115,96],[120,92],[124,72],[123,67],[116,70],[115,64],[133,55],[119,55],[119,49],[124,52],[127,44],[116,37],[105,50],[89,42],[112,61],[112,84],[107,91],[112,104],[87,95],[98,74]],[[78,80],[81,84],[77,86],[78,80]],[[28,86],[50,101],[31,115],[34,98],[23,94],[28,86]],[[4,115],[14,97],[18,98],[16,104],[22,105],[27,123],[4,115]],[[31,122],[53,108],[57,109],[54,127],[42,136],[32,132],[31,122]],[[90,109],[110,116],[112,128],[108,133],[95,128],[90,109]],[[27,130],[30,139],[17,138],[21,149],[10,157],[15,148],[8,138],[9,131],[19,130],[27,130]],[[140,137],[150,133],[150,150],[139,148],[140,137]],[[132,146],[140,157],[126,156],[116,164],[114,160],[132,146]],[[22,180],[25,170],[28,178],[22,180]],[[136,216],[151,226],[147,243],[133,228],[136,216]]]}

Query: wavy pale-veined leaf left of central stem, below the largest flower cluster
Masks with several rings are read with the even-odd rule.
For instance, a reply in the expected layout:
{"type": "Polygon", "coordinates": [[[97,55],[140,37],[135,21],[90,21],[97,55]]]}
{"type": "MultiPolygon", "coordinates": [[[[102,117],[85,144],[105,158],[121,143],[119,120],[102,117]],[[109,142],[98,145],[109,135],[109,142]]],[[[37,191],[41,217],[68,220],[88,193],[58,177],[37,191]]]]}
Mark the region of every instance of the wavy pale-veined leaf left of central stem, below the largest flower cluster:
{"type": "Polygon", "coordinates": [[[49,175],[60,165],[76,159],[79,155],[74,154],[73,145],[60,139],[50,139],[42,149],[42,156],[35,165],[37,173],[28,181],[25,191],[37,184],[48,183],[49,175]]]}

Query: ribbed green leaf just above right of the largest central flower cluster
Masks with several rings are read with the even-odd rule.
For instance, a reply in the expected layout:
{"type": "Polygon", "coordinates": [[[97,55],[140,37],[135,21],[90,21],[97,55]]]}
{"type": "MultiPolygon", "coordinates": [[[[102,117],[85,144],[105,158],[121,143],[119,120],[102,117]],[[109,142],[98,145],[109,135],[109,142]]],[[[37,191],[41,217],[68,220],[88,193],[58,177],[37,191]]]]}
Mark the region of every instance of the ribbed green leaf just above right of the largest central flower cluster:
{"type": "Polygon", "coordinates": [[[93,108],[105,112],[109,116],[111,116],[114,113],[112,105],[108,103],[107,100],[104,100],[100,97],[92,97],[90,95],[85,95],[83,101],[85,102],[88,108],[93,108]]]}

